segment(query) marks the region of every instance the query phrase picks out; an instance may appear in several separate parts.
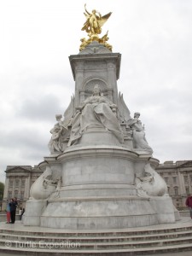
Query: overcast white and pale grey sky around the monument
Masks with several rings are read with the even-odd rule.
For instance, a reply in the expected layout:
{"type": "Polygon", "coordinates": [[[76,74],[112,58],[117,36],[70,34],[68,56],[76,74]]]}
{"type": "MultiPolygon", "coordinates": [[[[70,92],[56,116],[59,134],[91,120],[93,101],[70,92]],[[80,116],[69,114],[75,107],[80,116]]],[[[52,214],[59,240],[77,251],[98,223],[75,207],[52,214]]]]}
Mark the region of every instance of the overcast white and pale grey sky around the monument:
{"type": "Polygon", "coordinates": [[[122,54],[119,91],[141,113],[154,157],[192,160],[192,1],[0,0],[0,180],[49,155],[55,113],[74,92],[69,55],[86,37],[84,3],[106,15],[122,54]]]}

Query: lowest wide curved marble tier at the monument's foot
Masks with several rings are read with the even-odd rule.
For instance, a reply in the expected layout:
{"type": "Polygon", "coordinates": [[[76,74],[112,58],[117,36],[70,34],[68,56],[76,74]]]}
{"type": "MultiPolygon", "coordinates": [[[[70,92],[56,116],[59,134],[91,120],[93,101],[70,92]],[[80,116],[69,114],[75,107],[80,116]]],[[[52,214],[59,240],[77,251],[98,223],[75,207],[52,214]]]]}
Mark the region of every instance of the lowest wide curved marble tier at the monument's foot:
{"type": "Polygon", "coordinates": [[[157,214],[148,199],[137,196],[49,201],[41,217],[41,226],[57,229],[123,229],[144,224],[158,224],[157,214]]]}

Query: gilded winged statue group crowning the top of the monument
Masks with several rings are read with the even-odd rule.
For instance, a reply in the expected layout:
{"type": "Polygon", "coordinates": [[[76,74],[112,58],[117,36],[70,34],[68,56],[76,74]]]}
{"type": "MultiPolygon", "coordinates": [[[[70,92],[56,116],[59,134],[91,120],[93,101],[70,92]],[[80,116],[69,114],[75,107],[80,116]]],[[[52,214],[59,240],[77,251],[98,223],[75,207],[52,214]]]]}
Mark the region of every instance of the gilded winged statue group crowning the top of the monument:
{"type": "Polygon", "coordinates": [[[90,13],[86,9],[86,3],[84,4],[84,10],[86,21],[81,30],[88,33],[89,39],[81,39],[82,44],[80,45],[80,50],[84,49],[87,44],[90,44],[93,41],[98,41],[100,44],[103,44],[108,49],[112,50],[112,46],[106,43],[108,41],[108,32],[102,38],[99,38],[98,36],[98,34],[101,34],[102,32],[102,26],[112,13],[110,12],[107,15],[102,16],[96,9],[93,9],[92,13],[90,13]]]}

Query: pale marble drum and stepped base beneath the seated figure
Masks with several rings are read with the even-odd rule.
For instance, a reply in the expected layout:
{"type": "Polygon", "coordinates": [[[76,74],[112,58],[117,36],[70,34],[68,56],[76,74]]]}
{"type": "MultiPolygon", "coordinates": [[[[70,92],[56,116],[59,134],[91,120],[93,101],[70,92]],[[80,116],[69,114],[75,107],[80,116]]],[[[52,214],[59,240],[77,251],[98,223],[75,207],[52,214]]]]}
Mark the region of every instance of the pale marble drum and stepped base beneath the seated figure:
{"type": "MultiPolygon", "coordinates": [[[[61,170],[61,187],[38,204],[38,220],[26,209],[26,225],[110,230],[175,221],[169,196],[137,196],[136,173],[142,175],[146,162],[153,165],[156,161],[148,154],[137,154],[121,145],[82,143],[55,160],[46,160],[55,172],[56,168],[61,170]]],[[[36,201],[27,203],[31,203],[31,209],[37,206],[36,201]]]]}

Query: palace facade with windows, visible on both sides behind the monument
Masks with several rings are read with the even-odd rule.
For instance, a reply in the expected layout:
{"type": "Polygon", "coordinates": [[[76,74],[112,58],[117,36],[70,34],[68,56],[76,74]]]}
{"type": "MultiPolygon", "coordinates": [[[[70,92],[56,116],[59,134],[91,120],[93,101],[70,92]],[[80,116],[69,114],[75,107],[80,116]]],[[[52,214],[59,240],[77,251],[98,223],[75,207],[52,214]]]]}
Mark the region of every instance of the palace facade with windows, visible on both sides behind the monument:
{"type": "MultiPolygon", "coordinates": [[[[19,207],[25,208],[32,183],[44,172],[38,166],[7,166],[3,195],[3,209],[6,201],[17,197],[19,207]]],[[[169,195],[177,209],[185,207],[188,194],[192,194],[192,160],[166,161],[156,168],[166,181],[169,195]]]]}

